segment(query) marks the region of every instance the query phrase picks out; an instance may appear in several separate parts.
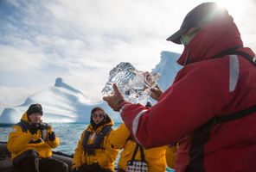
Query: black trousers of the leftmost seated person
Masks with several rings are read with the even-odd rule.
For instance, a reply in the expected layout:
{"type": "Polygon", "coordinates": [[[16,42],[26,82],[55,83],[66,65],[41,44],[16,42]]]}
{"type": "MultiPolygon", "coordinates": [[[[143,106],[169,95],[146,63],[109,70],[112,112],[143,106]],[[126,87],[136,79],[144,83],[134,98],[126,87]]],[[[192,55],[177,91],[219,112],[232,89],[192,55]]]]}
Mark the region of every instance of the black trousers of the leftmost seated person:
{"type": "Polygon", "coordinates": [[[16,157],[13,166],[19,172],[68,172],[67,163],[52,157],[41,158],[34,150],[24,151],[16,157]]]}

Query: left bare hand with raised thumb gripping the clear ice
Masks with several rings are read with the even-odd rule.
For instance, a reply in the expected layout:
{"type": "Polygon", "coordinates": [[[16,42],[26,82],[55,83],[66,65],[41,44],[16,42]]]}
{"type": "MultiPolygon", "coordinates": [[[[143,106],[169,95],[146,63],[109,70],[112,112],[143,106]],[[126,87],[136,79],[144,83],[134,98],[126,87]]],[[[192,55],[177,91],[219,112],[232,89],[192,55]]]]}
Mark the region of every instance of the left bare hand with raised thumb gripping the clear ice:
{"type": "Polygon", "coordinates": [[[114,111],[119,110],[119,101],[125,100],[124,95],[118,89],[116,83],[113,84],[113,94],[104,96],[103,100],[107,102],[107,104],[112,107],[114,111]]]}

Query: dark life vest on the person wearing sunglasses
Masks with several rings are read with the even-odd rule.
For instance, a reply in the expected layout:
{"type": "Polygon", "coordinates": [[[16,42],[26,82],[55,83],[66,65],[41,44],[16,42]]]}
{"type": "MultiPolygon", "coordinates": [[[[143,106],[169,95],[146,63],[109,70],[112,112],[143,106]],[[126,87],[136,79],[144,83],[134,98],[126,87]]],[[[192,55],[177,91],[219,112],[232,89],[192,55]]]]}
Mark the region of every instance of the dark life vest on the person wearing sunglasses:
{"type": "Polygon", "coordinates": [[[97,149],[105,149],[103,148],[103,140],[111,131],[112,131],[112,126],[103,126],[102,130],[97,134],[93,144],[87,144],[88,139],[92,132],[86,131],[82,141],[82,147],[84,151],[94,151],[97,149]]]}

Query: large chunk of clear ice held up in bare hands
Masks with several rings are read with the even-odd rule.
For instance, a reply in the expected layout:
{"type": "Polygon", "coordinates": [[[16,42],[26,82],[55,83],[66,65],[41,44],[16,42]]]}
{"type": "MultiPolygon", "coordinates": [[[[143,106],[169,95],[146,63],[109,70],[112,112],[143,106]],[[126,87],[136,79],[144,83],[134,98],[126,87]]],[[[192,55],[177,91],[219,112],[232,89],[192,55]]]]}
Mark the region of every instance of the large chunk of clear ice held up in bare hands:
{"type": "Polygon", "coordinates": [[[121,62],[110,71],[109,80],[102,93],[104,96],[111,95],[112,84],[116,83],[126,101],[146,104],[150,97],[150,88],[156,87],[159,77],[159,73],[138,71],[130,63],[121,62]]]}

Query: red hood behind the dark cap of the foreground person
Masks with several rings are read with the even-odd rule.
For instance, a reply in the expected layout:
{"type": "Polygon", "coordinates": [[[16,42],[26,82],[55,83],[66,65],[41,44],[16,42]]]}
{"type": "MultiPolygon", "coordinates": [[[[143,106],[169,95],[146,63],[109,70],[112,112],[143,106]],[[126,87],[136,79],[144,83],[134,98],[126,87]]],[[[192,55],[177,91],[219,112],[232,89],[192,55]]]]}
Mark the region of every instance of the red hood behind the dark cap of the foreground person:
{"type": "Polygon", "coordinates": [[[229,48],[243,46],[240,32],[234,23],[233,17],[227,15],[204,26],[196,34],[189,45],[184,46],[178,64],[186,65],[204,59],[214,58],[220,52],[229,48]]]}

